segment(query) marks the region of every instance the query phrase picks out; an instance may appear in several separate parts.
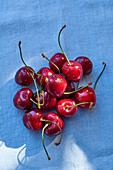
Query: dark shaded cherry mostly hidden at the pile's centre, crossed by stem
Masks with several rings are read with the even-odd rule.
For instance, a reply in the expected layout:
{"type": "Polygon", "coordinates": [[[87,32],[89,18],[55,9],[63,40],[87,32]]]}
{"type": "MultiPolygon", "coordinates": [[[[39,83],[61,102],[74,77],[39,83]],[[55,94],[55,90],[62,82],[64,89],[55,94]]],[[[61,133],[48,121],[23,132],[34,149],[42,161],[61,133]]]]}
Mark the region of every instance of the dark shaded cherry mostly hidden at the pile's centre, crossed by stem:
{"type": "MultiPolygon", "coordinates": [[[[67,88],[66,88],[65,92],[73,92],[73,91],[75,91],[75,85],[74,85],[74,83],[71,82],[71,81],[67,81],[67,88]]],[[[64,92],[64,93],[65,93],[65,92],[64,92]]],[[[73,95],[74,95],[73,93],[63,94],[63,95],[61,96],[61,98],[62,98],[62,99],[71,98],[71,97],[73,97],[73,95]]]]}

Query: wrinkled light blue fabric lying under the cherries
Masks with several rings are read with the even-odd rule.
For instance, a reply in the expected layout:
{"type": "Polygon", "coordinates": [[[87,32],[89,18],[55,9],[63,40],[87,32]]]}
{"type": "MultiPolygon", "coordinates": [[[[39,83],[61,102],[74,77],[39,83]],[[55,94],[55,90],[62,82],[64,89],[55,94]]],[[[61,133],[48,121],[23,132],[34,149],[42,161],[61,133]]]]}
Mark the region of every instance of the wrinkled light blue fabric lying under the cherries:
{"type": "MultiPolygon", "coordinates": [[[[11,0],[0,1],[0,170],[112,170],[113,169],[113,1],[112,0],[11,0]],[[69,59],[84,55],[93,62],[93,72],[80,85],[95,82],[97,103],[92,110],[79,109],[65,119],[63,140],[45,136],[51,156],[48,161],[41,143],[41,131],[24,127],[23,111],[13,106],[21,87],[15,83],[23,56],[38,71],[48,66],[41,57],[61,52],[57,36],[69,59]]],[[[34,85],[30,85],[34,89],[34,85]]]]}

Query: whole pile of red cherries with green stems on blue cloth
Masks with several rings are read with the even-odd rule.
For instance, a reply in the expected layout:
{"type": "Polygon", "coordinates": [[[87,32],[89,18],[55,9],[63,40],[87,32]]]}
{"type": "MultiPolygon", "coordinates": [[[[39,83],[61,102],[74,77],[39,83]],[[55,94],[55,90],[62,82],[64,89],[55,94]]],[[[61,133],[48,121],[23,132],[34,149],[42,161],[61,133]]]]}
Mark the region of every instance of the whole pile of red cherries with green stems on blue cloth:
{"type": "Polygon", "coordinates": [[[55,145],[60,144],[64,129],[62,117],[74,115],[78,107],[91,109],[95,105],[95,87],[106,67],[106,63],[103,62],[103,70],[95,81],[94,88],[89,87],[92,83],[78,87],[82,77],[92,72],[93,65],[90,59],[84,56],[69,61],[60,43],[60,35],[65,27],[66,25],[58,34],[58,43],[63,53],[56,53],[50,60],[42,54],[49,61],[50,68],[43,67],[37,73],[26,65],[22,57],[21,41],[18,44],[20,57],[25,66],[16,72],[15,81],[21,86],[28,86],[34,82],[36,92],[33,93],[30,88],[22,88],[15,94],[13,103],[16,108],[27,110],[23,115],[23,123],[28,129],[42,128],[42,143],[49,160],[50,156],[44,144],[44,132],[47,135],[61,134],[60,140],[55,145]],[[33,103],[37,108],[31,108],[33,103]],[[57,113],[50,112],[53,108],[57,113]],[[48,113],[44,115],[43,111],[47,110],[48,113]]]}

